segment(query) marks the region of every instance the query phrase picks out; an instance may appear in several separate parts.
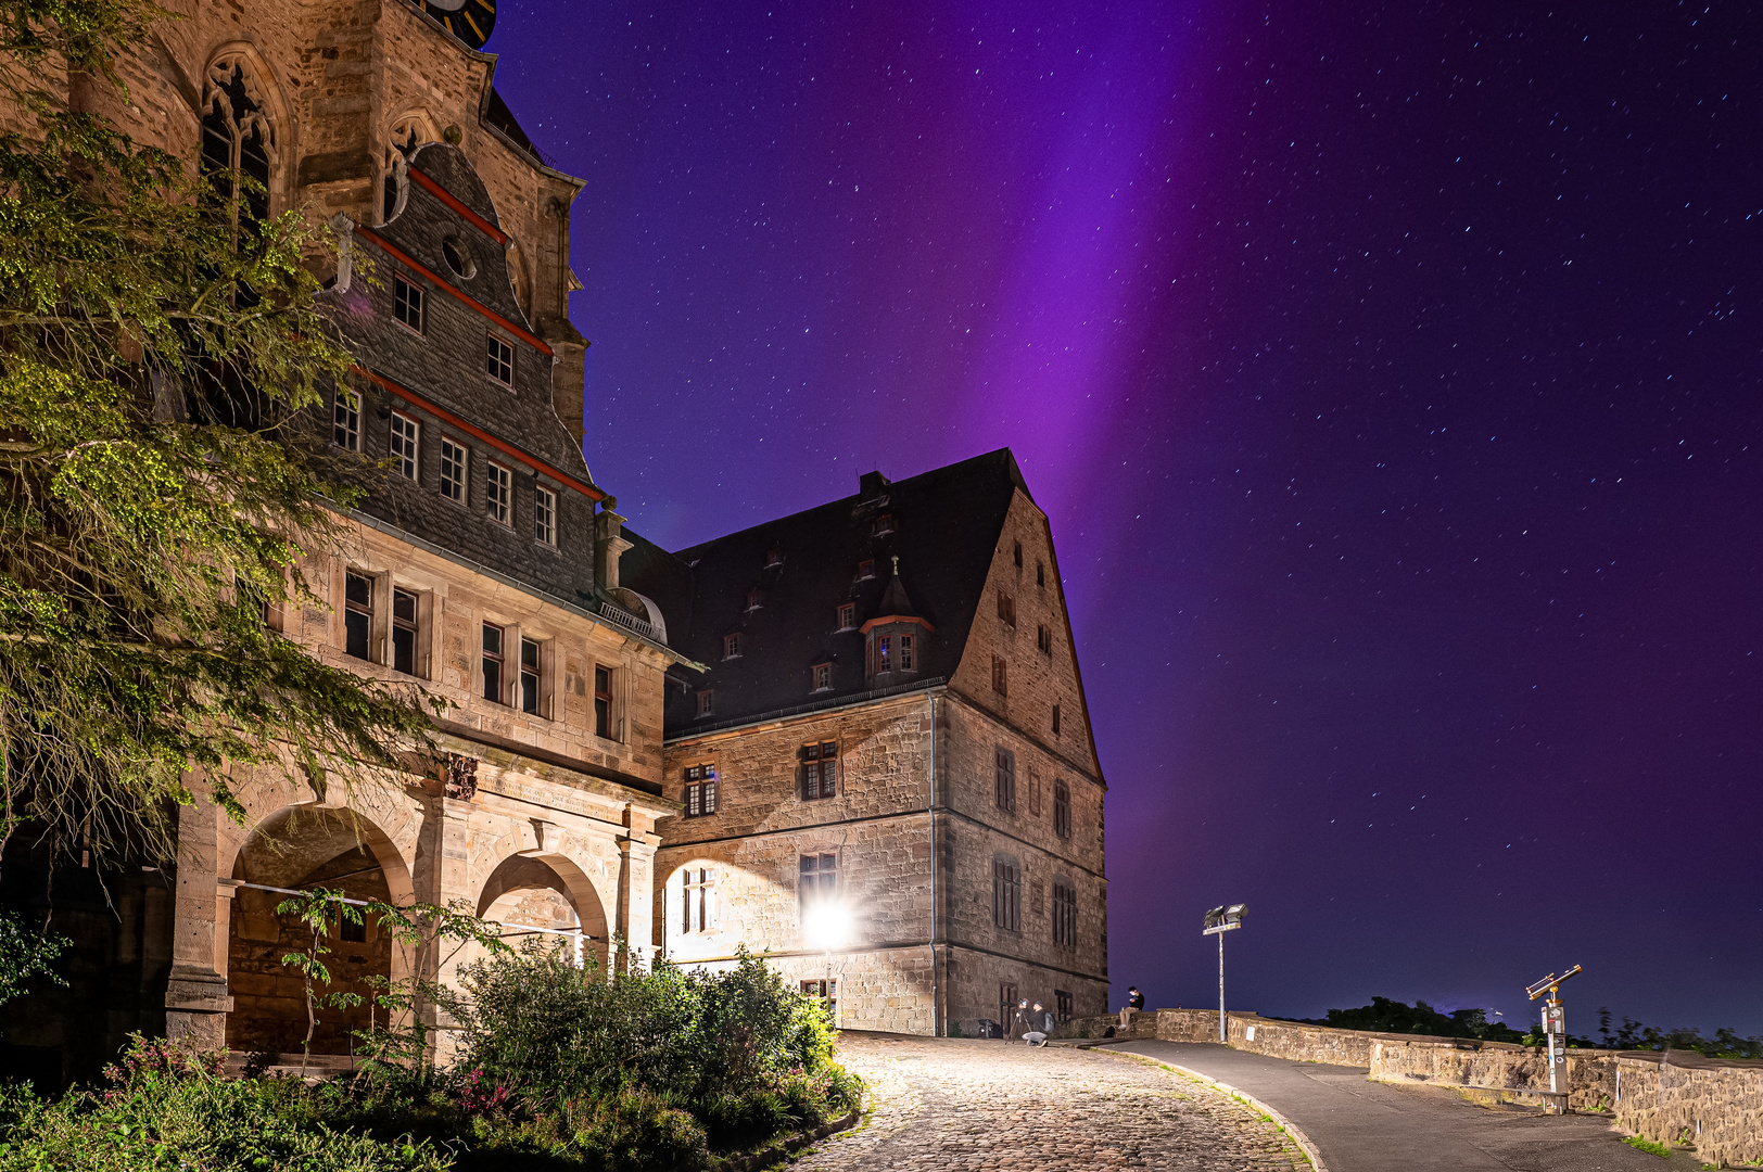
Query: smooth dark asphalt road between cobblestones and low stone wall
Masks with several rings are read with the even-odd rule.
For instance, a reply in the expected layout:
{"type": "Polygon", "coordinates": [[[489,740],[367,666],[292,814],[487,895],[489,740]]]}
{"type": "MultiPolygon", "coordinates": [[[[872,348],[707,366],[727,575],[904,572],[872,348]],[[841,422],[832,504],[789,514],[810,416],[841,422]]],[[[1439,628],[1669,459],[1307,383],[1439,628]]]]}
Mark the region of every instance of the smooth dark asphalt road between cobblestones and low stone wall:
{"type": "Polygon", "coordinates": [[[1114,1050],[1186,1066],[1291,1119],[1329,1172],[1668,1172],[1700,1167],[1622,1144],[1608,1121],[1490,1110],[1449,1091],[1370,1082],[1354,1066],[1292,1063],[1202,1042],[1125,1042],[1114,1050]]]}

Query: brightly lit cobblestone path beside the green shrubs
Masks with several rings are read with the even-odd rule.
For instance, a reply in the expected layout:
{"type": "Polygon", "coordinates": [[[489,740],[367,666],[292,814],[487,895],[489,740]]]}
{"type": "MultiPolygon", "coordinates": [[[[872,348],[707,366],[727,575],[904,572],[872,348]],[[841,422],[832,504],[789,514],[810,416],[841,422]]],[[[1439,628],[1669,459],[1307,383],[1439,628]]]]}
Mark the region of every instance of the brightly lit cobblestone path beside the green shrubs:
{"type": "Polygon", "coordinates": [[[823,1140],[792,1172],[1310,1168],[1261,1112],[1127,1057],[843,1035],[839,1061],[869,1080],[874,1112],[867,1124],[823,1140]]]}

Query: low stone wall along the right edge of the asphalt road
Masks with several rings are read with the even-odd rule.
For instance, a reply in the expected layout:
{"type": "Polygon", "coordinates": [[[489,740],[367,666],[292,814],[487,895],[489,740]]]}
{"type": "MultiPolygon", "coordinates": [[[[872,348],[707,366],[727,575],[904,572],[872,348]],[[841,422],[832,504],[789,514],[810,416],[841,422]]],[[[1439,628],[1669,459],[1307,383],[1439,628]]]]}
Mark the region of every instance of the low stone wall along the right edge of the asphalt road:
{"type": "MultiPolygon", "coordinates": [[[[1160,1042],[1218,1040],[1216,1010],[1157,1010],[1128,1029],[1120,1017],[1074,1019],[1058,1036],[1160,1042]]],[[[1541,1105],[1548,1066],[1536,1047],[1472,1038],[1363,1033],[1255,1013],[1231,1013],[1231,1045],[1291,1061],[1359,1066],[1384,1082],[1432,1082],[1541,1105]]],[[[1659,1144],[1687,1144],[1705,1163],[1763,1161],[1763,1061],[1714,1059],[1691,1050],[1569,1050],[1567,1105],[1611,1110],[1615,1124],[1659,1144]]]]}

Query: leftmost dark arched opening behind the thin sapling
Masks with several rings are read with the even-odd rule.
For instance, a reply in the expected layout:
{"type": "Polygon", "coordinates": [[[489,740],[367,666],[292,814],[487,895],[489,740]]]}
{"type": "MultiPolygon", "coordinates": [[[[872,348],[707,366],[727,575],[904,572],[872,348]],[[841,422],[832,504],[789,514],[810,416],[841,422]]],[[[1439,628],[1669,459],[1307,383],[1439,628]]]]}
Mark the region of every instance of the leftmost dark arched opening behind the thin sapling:
{"type": "MultiPolygon", "coordinates": [[[[277,913],[287,890],[317,886],[342,890],[351,899],[395,904],[413,901],[411,872],[391,839],[372,820],[349,807],[284,805],[238,844],[231,865],[231,918],[227,925],[227,1045],[243,1050],[287,1052],[305,1036],[305,992],[287,952],[310,943],[307,929],[277,913]],[[272,890],[282,888],[282,890],[272,890]]],[[[409,946],[390,938],[372,916],[361,925],[338,922],[326,931],[328,992],[374,992],[370,978],[402,980],[411,975],[409,946]]],[[[379,1015],[381,1020],[383,1013],[379,1015]]],[[[316,1054],[347,1054],[351,1031],[368,1024],[368,1008],[321,1010],[312,1040],[316,1054]]]]}

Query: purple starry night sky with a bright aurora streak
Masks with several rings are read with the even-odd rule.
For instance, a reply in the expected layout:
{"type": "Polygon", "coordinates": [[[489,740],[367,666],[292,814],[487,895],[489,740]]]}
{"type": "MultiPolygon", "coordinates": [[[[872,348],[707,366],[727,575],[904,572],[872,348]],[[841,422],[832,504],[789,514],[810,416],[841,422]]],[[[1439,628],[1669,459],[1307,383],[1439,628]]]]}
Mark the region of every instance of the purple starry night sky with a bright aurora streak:
{"type": "MultiPolygon", "coordinates": [[[[504,0],[681,548],[1008,444],[1116,1001],[1763,1031],[1763,16],[504,0]]],[[[1641,9],[1647,9],[1641,14],[1641,9]]]]}

